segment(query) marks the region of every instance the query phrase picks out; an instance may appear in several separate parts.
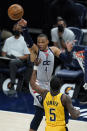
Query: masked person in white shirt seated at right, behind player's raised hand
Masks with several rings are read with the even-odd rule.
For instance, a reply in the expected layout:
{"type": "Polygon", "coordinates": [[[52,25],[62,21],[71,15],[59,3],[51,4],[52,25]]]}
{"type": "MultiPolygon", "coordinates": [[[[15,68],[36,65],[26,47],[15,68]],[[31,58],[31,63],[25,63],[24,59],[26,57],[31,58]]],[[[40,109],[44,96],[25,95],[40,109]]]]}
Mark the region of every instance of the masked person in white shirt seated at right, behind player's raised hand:
{"type": "Polygon", "coordinates": [[[51,40],[54,46],[60,49],[66,49],[66,42],[74,42],[74,33],[66,27],[66,22],[62,17],[57,17],[57,27],[51,29],[51,40]]]}

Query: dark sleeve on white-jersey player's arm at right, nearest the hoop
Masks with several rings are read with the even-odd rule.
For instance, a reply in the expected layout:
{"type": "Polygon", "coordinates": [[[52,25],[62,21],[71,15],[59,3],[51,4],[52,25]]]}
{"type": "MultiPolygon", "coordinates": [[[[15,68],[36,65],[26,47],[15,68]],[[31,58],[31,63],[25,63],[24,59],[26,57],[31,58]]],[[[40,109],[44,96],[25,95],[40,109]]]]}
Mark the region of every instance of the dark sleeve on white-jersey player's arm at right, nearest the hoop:
{"type": "Polygon", "coordinates": [[[59,55],[59,59],[62,60],[64,63],[70,63],[72,61],[72,58],[72,52],[68,52],[67,50],[64,53],[60,53],[59,55]]]}

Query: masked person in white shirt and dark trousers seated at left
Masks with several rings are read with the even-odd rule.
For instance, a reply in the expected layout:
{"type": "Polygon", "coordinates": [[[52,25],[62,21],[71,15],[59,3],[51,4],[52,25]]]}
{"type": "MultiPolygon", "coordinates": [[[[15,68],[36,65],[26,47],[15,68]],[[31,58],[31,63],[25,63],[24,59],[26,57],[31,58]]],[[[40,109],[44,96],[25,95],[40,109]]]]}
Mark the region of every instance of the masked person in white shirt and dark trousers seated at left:
{"type": "MultiPolygon", "coordinates": [[[[30,52],[26,45],[26,42],[24,41],[23,36],[21,35],[21,32],[22,32],[21,26],[15,24],[13,26],[14,35],[6,39],[4,46],[2,48],[2,56],[12,58],[12,60],[10,60],[8,63],[11,79],[11,85],[9,88],[11,90],[14,90],[15,78],[18,68],[27,65],[24,78],[26,86],[29,85],[29,79],[32,73],[32,70],[30,69],[28,64],[30,52]]],[[[1,63],[0,67],[1,66],[2,67],[6,66],[7,68],[7,65],[5,65],[4,61],[1,63]]]]}

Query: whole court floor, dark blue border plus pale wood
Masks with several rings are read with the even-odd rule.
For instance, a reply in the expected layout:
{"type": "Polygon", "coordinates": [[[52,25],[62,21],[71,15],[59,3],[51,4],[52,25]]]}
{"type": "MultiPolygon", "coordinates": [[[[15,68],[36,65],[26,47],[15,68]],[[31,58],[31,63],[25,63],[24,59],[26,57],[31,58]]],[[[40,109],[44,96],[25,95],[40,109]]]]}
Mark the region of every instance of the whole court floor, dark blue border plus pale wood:
{"type": "MultiPolygon", "coordinates": [[[[80,110],[81,115],[78,120],[70,119],[69,131],[87,131],[87,104],[81,105],[78,100],[74,100],[73,105],[80,110]]],[[[31,94],[21,93],[9,97],[0,92],[0,131],[29,131],[33,114],[31,94]]],[[[45,131],[45,117],[38,131],[45,131]]]]}

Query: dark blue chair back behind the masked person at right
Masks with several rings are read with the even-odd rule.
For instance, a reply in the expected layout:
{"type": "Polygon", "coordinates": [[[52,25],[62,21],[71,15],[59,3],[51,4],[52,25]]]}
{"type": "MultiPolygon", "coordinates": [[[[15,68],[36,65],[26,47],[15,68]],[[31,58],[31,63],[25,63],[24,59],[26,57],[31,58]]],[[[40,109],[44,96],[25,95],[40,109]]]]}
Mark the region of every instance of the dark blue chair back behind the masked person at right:
{"type": "Polygon", "coordinates": [[[83,44],[83,36],[84,36],[83,31],[77,27],[68,27],[68,28],[70,30],[72,30],[75,34],[75,40],[77,40],[75,45],[82,45],[83,44]]]}

